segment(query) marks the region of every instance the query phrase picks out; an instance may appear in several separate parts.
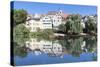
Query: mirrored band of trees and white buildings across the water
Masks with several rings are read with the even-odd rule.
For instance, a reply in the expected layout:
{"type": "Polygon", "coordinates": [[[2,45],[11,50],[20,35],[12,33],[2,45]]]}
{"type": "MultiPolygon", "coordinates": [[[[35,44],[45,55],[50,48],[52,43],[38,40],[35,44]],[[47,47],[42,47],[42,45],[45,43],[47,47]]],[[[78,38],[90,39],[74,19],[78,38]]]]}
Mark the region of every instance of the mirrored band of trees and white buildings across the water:
{"type": "MultiPolygon", "coordinates": [[[[14,45],[14,55],[26,57],[28,50],[33,51],[36,55],[42,53],[50,57],[63,57],[64,54],[70,54],[79,57],[84,52],[96,53],[97,52],[97,39],[93,37],[67,37],[62,40],[40,40],[31,39],[25,42],[26,45],[14,45]],[[28,49],[27,49],[28,48],[28,49]]],[[[97,55],[93,55],[93,60],[97,60],[97,55]]]]}

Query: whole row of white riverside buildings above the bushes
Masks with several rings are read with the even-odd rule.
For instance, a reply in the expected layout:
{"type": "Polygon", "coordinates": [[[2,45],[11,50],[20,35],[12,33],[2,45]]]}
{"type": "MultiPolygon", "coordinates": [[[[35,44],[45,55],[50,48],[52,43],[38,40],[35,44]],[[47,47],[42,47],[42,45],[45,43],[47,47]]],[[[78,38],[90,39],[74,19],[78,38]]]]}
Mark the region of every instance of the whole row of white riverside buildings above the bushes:
{"type": "Polygon", "coordinates": [[[26,21],[26,27],[30,29],[31,32],[36,32],[39,29],[56,29],[62,23],[65,23],[68,15],[64,14],[62,10],[59,12],[48,12],[45,15],[35,14],[29,15],[26,21]]]}

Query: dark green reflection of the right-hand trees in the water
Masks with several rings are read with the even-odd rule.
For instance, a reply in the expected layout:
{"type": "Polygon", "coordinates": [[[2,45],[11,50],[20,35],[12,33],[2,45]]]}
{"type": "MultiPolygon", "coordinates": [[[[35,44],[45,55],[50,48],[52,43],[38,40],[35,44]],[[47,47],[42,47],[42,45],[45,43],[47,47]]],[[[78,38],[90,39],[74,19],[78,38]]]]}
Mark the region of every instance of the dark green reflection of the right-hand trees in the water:
{"type": "Polygon", "coordinates": [[[59,43],[66,48],[66,51],[76,57],[79,57],[83,52],[97,52],[97,39],[93,37],[68,37],[60,40],[59,43]]]}

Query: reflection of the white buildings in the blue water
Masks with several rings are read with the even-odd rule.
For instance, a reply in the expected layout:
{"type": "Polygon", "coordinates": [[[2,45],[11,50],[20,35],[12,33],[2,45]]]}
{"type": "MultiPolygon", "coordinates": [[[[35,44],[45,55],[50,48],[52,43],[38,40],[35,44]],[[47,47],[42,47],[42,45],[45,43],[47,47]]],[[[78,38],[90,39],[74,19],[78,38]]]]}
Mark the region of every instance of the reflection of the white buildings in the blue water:
{"type": "Polygon", "coordinates": [[[48,56],[63,56],[63,47],[58,41],[46,41],[31,38],[26,41],[26,47],[31,51],[34,51],[35,55],[46,53],[48,56]]]}

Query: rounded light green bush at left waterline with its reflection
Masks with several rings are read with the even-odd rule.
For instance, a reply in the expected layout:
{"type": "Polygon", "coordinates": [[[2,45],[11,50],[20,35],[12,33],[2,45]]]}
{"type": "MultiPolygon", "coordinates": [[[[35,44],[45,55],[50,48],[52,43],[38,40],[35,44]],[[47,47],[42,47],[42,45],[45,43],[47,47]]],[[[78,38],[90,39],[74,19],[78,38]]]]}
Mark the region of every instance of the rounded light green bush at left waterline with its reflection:
{"type": "Polygon", "coordinates": [[[21,45],[28,40],[29,30],[23,24],[15,26],[13,30],[14,42],[21,45]]]}

